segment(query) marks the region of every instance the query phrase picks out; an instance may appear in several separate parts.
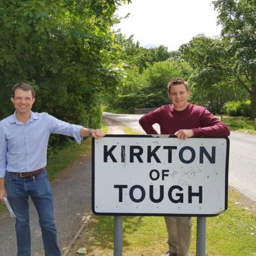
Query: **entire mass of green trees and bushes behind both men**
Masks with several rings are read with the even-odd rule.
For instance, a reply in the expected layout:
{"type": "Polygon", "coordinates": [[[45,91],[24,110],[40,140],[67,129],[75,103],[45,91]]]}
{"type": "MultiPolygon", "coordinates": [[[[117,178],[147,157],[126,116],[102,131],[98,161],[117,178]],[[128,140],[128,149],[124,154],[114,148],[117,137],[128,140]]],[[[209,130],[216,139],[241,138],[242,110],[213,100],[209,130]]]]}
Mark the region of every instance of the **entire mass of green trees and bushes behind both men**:
{"type": "Polygon", "coordinates": [[[240,112],[256,117],[253,0],[213,1],[221,36],[198,34],[173,52],[113,31],[116,9],[130,2],[2,0],[0,119],[12,114],[6,99],[19,82],[36,89],[34,111],[99,127],[102,105],[129,111],[169,103],[166,85],[175,76],[189,82],[191,103],[221,114],[228,102],[250,100],[240,112]]]}

